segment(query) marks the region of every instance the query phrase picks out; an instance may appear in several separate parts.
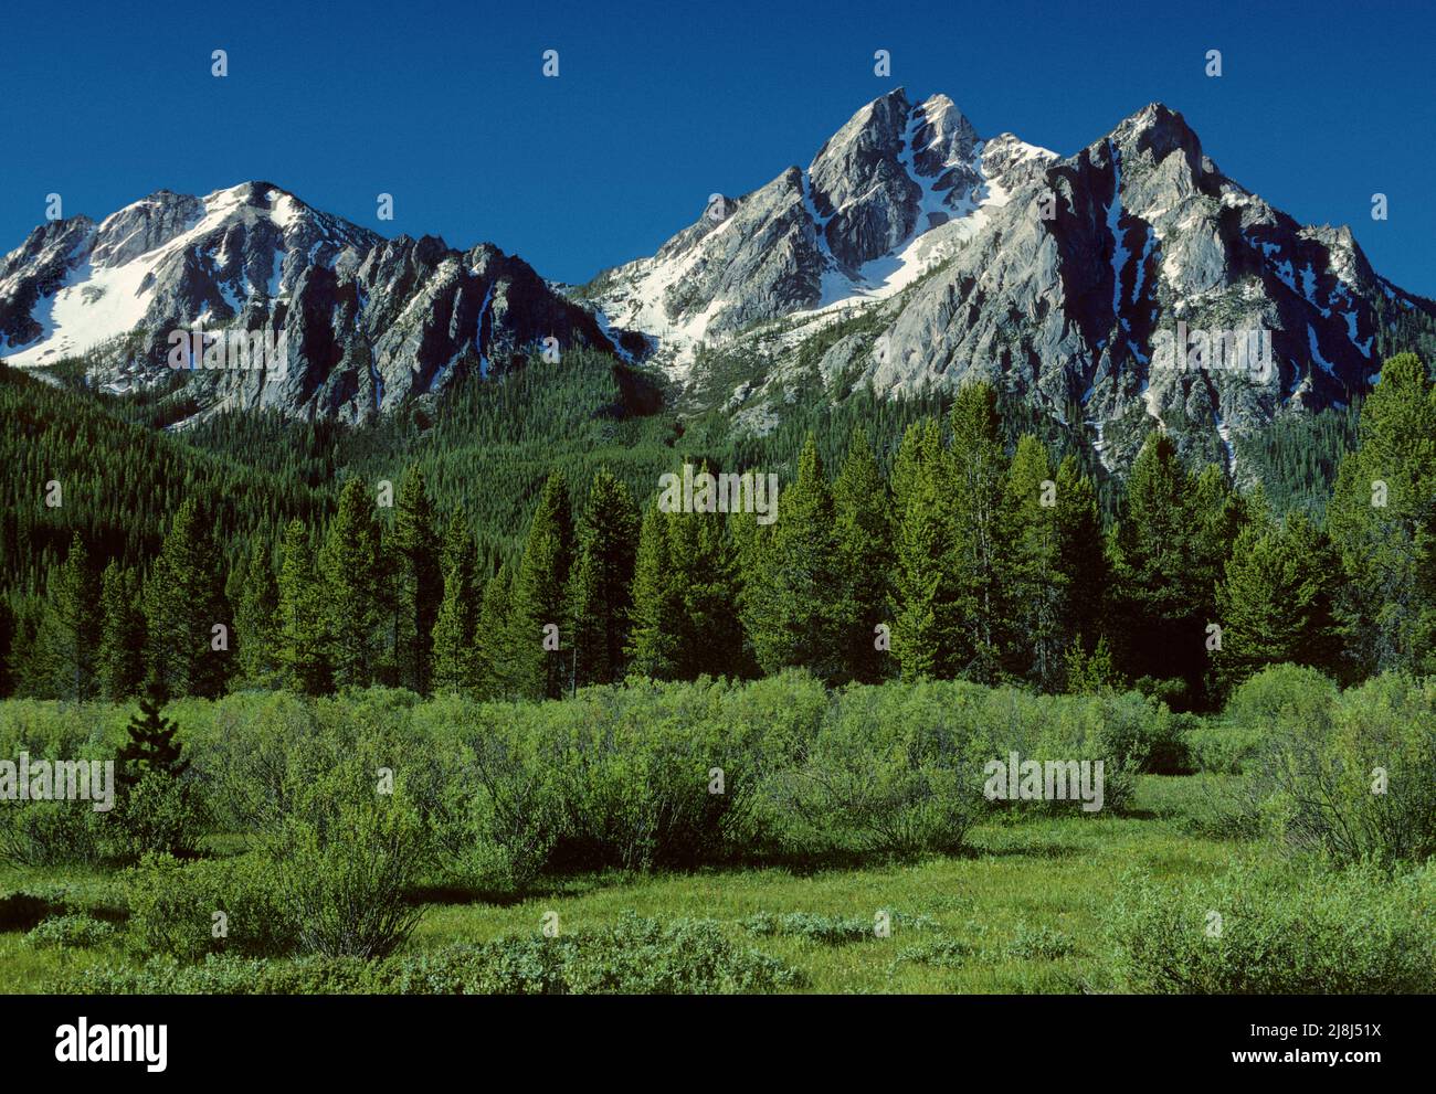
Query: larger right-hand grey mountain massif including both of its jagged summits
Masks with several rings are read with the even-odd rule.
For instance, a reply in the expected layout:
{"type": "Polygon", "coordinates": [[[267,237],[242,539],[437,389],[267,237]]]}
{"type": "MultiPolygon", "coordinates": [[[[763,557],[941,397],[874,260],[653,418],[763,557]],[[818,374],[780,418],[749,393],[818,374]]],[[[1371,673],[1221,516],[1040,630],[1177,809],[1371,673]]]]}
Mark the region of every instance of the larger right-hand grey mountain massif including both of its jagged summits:
{"type": "Polygon", "coordinates": [[[1083,431],[1109,468],[1157,426],[1235,469],[1236,436],[1344,406],[1386,353],[1436,335],[1436,304],[1380,277],[1348,228],[1242,188],[1160,103],[1063,158],[899,89],[807,169],[721,208],[577,294],[653,333],[691,388],[704,350],[761,362],[709,392],[757,431],[804,386],[984,378],[1083,431]],[[1215,349],[1180,368],[1183,336],[1215,349]],[[1218,368],[1238,340],[1261,368],[1218,368]]]}

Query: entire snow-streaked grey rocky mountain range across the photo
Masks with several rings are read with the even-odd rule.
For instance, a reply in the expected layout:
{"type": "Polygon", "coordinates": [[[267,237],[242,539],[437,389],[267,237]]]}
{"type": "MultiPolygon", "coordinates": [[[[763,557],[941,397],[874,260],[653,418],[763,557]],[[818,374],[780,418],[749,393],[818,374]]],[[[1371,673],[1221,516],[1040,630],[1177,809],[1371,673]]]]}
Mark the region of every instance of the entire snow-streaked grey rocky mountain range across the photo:
{"type": "Polygon", "coordinates": [[[129,391],[172,378],[167,337],[194,326],[284,336],[273,375],[195,372],[202,409],[369,421],[551,336],[643,357],[681,413],[729,413],[740,434],[806,393],[984,378],[1109,469],[1159,428],[1238,472],[1241,438],[1340,409],[1384,356],[1436,346],[1436,304],[1377,274],[1348,228],[1228,178],[1160,103],[1063,156],[898,89],[806,168],[712,195],[656,254],[580,287],[491,244],[385,240],[267,182],[45,224],[0,261],[14,365],[82,355],[129,391]]]}

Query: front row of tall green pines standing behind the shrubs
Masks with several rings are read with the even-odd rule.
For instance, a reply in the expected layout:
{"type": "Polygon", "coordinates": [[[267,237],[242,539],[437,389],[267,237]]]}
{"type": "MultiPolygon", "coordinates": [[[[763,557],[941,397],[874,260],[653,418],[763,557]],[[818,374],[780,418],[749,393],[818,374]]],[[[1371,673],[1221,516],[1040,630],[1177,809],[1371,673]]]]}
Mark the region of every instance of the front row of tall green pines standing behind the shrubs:
{"type": "Polygon", "coordinates": [[[375,683],[557,698],[630,673],[804,666],[830,685],[1130,685],[1199,709],[1277,662],[1343,681],[1432,672],[1436,391],[1414,355],[1386,362],[1357,434],[1324,521],[1278,517],[1261,487],[1188,467],[1160,432],[1104,520],[1071,455],[1034,435],[1004,442],[982,383],[909,425],[886,474],[862,428],[833,469],[810,438],[771,525],[665,513],[656,482],[640,507],[607,468],[574,504],[554,472],[500,563],[411,467],[392,514],[388,484],[350,477],[327,521],[294,518],[277,547],[256,538],[227,563],[190,498],[145,567],[98,571],[75,533],[43,619],[4,627],[6,685],[70,699],[375,683]]]}

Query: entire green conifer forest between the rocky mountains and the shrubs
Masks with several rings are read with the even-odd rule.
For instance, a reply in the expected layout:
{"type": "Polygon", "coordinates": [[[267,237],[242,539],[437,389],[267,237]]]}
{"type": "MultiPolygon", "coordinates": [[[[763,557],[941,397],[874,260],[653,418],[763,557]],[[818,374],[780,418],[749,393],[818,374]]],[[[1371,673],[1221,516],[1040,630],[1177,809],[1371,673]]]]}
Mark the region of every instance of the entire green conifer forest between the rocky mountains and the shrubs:
{"type": "Polygon", "coordinates": [[[155,431],[152,401],[6,370],[4,686],[537,698],[803,666],[1202,708],[1281,660],[1429,670],[1432,391],[1393,357],[1360,412],[1245,447],[1249,487],[1160,434],[1107,478],[984,385],[816,396],[757,436],[577,353],[362,429],[155,431]],[[684,464],[777,474],[777,521],[661,513],[684,464]]]}

